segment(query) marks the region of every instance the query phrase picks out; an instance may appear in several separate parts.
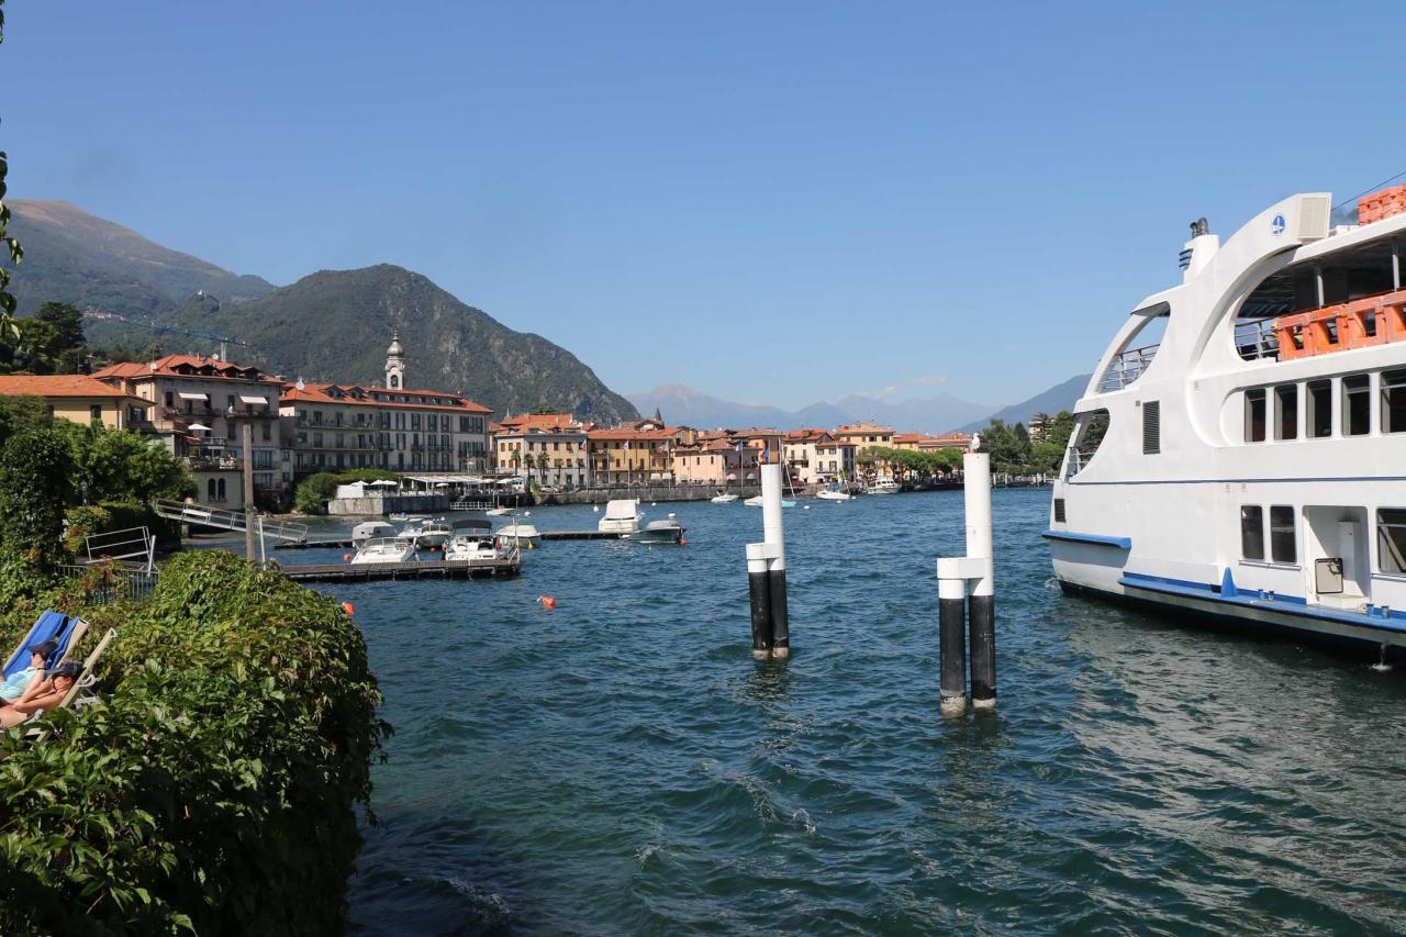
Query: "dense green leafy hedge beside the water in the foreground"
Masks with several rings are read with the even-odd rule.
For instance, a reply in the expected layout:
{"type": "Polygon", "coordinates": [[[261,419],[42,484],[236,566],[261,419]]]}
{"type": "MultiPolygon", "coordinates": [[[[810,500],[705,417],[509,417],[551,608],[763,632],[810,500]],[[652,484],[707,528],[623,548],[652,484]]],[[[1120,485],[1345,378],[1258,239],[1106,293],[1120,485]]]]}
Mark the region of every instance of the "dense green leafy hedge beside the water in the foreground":
{"type": "Polygon", "coordinates": [[[0,736],[0,933],[340,933],[389,732],[347,615],[202,550],[91,620],[104,705],[0,736]]]}

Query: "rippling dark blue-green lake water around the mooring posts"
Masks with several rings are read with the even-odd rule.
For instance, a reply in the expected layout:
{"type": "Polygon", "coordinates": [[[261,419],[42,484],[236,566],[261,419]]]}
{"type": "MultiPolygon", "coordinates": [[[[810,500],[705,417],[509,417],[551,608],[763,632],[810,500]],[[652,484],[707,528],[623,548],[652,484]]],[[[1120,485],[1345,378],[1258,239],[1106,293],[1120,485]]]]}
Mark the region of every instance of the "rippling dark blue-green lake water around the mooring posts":
{"type": "Polygon", "coordinates": [[[783,665],[749,654],[762,518],[738,504],[645,505],[683,547],[322,587],[356,604],[396,729],[353,930],[1402,927],[1402,674],[1063,598],[1047,498],[994,495],[1000,709],[955,723],[934,560],[963,552],[960,492],[786,511],[783,665]]]}

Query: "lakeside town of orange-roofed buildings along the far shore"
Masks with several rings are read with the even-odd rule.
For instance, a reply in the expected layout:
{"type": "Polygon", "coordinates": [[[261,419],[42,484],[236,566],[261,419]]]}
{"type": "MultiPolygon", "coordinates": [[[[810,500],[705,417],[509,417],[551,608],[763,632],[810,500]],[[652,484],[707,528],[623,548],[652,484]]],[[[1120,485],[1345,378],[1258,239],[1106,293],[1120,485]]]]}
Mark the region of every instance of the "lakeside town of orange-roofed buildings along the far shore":
{"type": "MultiPolygon", "coordinates": [[[[658,411],[614,426],[546,407],[494,419],[488,407],[461,394],[412,390],[405,349],[394,333],[381,385],[290,381],[221,357],[165,355],[90,374],[0,376],[0,395],[38,397],[53,416],[159,442],[188,468],[197,504],[229,511],[245,509],[246,425],[254,506],[270,512],[294,505],[318,512],[328,485],[312,485],[315,498],[297,497],[311,477],[354,483],[377,473],[394,474],[406,490],[449,495],[547,498],[668,485],[702,497],[755,488],[759,466],[780,461],[793,491],[858,492],[882,483],[950,481],[972,442],[965,432],[896,432],[876,423],[785,432],[671,426],[658,411]]],[[[1063,445],[1050,440],[1060,433],[1067,439],[1063,423],[1040,416],[1021,428],[1032,447],[1028,454],[1040,456],[1028,460],[1035,466],[1029,474],[1057,467],[1063,445]]]]}

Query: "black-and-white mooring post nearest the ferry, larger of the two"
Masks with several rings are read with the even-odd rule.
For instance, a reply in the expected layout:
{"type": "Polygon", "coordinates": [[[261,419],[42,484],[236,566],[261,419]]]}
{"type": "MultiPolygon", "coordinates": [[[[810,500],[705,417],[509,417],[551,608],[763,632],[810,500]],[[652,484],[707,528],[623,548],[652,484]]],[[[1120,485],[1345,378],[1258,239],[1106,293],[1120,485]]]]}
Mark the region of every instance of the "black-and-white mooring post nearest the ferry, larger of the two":
{"type": "Polygon", "coordinates": [[[980,452],[981,438],[972,438],[972,452],[962,457],[967,554],[938,560],[938,629],[942,656],[941,709],[943,716],[966,712],[966,664],[970,651],[972,708],[995,709],[995,564],[991,559],[991,456],[980,452]],[[963,609],[966,605],[966,609],[963,609]],[[962,616],[970,636],[963,647],[962,616]]]}

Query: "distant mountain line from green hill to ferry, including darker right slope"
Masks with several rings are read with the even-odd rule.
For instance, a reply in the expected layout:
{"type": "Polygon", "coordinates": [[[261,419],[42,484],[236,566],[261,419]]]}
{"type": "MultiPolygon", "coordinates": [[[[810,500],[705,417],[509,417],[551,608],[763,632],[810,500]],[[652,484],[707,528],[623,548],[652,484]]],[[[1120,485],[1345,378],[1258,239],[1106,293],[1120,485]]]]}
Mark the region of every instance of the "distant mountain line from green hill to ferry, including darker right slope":
{"type": "Polygon", "coordinates": [[[1071,377],[1029,400],[1000,409],[988,404],[973,404],[952,394],[901,401],[851,394],[837,401],[821,401],[797,411],[787,411],[762,404],[737,404],[683,384],[661,384],[652,391],[628,394],[628,398],[640,412],[652,414],[658,408],[671,423],[704,429],[714,426],[800,429],[876,422],[893,426],[898,432],[942,433],[955,428],[972,432],[986,426],[991,419],[1004,419],[1008,423],[1029,422],[1038,412],[1054,414],[1070,409],[1087,384],[1087,374],[1071,377]]]}

